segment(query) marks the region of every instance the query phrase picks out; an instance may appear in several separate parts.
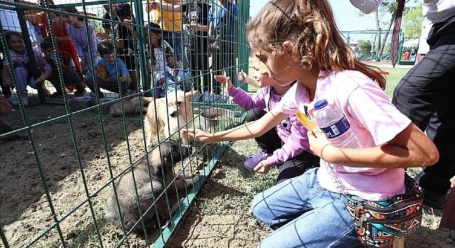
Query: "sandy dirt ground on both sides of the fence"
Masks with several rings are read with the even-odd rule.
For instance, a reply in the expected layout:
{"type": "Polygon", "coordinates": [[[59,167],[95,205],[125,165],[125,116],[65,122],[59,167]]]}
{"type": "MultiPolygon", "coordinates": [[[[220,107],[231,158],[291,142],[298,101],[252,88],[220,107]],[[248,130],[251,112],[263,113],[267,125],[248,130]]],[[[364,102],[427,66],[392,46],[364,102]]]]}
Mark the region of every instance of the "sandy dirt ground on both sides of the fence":
{"type": "MultiPolygon", "coordinates": [[[[52,120],[64,110],[31,106],[27,111],[28,121],[38,123],[52,120]]],[[[21,126],[17,113],[1,118],[21,126]]],[[[100,122],[99,115],[90,112],[72,117],[71,125],[68,118],[62,118],[33,127],[33,142],[1,142],[0,222],[9,247],[23,247],[36,237],[39,239],[33,247],[61,247],[61,239],[67,247],[101,247],[100,242],[103,247],[114,247],[124,238],[122,230],[104,220],[103,210],[111,176],[144,154],[141,118],[124,122],[104,117],[100,122]],[[91,196],[88,201],[87,196],[91,196]],[[53,225],[54,216],[63,220],[53,225]]],[[[202,148],[196,162],[185,171],[202,169],[214,150],[216,146],[202,148]]],[[[254,152],[253,140],[234,142],[228,148],[167,247],[256,247],[270,233],[251,216],[248,207],[256,193],[273,184],[270,178],[274,175],[264,184],[235,184],[240,179],[260,179],[241,168],[244,159],[254,152]]],[[[454,247],[455,230],[437,229],[442,212],[425,208],[424,213],[422,228],[407,239],[406,247],[454,247]]],[[[156,237],[158,232],[148,240],[131,235],[128,244],[148,247],[156,237]]],[[[1,243],[0,247],[5,245],[1,243]]]]}

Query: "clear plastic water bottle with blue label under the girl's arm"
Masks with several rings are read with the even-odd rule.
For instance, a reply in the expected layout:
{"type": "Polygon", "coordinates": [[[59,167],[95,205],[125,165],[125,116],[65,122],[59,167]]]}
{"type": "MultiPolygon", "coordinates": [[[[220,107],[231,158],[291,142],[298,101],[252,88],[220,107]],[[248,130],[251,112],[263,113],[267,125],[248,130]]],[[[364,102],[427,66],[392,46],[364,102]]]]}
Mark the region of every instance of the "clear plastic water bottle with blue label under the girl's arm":
{"type": "Polygon", "coordinates": [[[326,99],[314,103],[314,108],[317,126],[334,146],[341,148],[361,147],[340,108],[329,105],[326,99]]]}

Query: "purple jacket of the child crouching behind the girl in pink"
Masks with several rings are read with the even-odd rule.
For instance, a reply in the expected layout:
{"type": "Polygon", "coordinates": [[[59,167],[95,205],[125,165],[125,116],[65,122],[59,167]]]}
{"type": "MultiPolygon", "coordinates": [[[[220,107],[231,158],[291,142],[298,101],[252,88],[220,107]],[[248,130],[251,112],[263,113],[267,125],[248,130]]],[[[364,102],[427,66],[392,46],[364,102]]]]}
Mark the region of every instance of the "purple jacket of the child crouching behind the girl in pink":
{"type": "MultiPolygon", "coordinates": [[[[242,89],[232,87],[229,91],[234,103],[249,111],[251,108],[263,108],[270,111],[281,100],[282,95],[278,95],[270,86],[258,89],[256,94],[250,95],[242,89]]],[[[276,126],[278,136],[283,140],[285,145],[273,152],[273,155],[267,158],[270,165],[283,164],[288,159],[292,159],[304,151],[310,152],[307,129],[297,120],[295,115],[290,115],[276,126]]]]}

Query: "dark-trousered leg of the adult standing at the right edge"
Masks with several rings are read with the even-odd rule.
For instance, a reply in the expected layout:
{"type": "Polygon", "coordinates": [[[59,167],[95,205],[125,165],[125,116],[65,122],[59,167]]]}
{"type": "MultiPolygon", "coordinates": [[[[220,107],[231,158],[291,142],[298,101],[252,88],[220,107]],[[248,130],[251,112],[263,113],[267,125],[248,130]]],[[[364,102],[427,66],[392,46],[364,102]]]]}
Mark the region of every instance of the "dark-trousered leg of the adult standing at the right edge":
{"type": "Polygon", "coordinates": [[[439,162],[424,168],[419,184],[444,194],[455,176],[455,20],[435,24],[428,41],[429,52],[400,80],[392,102],[436,145],[439,162]]]}

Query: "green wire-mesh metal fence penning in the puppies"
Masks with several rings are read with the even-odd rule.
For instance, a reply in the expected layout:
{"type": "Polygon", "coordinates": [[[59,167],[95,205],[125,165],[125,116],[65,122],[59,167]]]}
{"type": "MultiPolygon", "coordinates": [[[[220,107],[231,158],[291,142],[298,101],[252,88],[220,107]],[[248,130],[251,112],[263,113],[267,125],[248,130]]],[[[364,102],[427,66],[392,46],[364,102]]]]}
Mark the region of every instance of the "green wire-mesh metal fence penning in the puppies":
{"type": "MultiPolygon", "coordinates": [[[[170,213],[167,226],[158,222],[153,232],[148,232],[146,237],[139,237],[132,230],[117,227],[104,218],[106,198],[121,176],[133,175],[134,178],[134,169],[144,161],[150,166],[150,153],[158,150],[158,144],[166,139],[160,133],[155,137],[158,144],[147,147],[144,113],[139,111],[128,115],[126,105],[135,96],[156,96],[158,89],[165,91],[177,86],[183,89],[190,82],[199,86],[187,90],[207,89],[211,95],[207,94],[209,97],[204,98],[204,94],[199,94],[199,98],[193,98],[191,106],[194,115],[190,120],[180,122],[186,121],[210,133],[241,123],[245,112],[231,103],[221,84],[212,79],[214,74],[226,74],[232,77],[234,84],[246,89],[245,84],[236,80],[236,74],[241,69],[248,71],[245,28],[249,19],[249,1],[232,1],[232,4],[236,4],[237,13],[229,11],[229,5],[224,9],[226,15],[231,16],[229,20],[235,21],[235,26],[228,25],[228,31],[236,28],[228,32],[230,36],[217,36],[216,32],[210,32],[211,36],[207,32],[206,35],[204,30],[207,28],[202,28],[202,31],[196,28],[195,32],[190,30],[185,33],[185,28],[191,26],[192,21],[199,23],[200,20],[191,20],[188,16],[180,18],[185,13],[191,15],[191,11],[182,9],[183,5],[188,8],[194,4],[207,4],[210,9],[218,9],[220,1],[169,1],[172,10],[168,12],[175,29],[167,32],[172,36],[168,42],[174,43],[171,45],[174,48],[172,55],[178,59],[179,55],[184,56],[186,53],[189,60],[187,63],[182,61],[187,74],[177,77],[178,72],[185,70],[177,72],[172,68],[172,82],[164,80],[164,83],[157,77],[162,75],[155,74],[154,62],[150,59],[150,55],[154,54],[152,51],[155,51],[153,48],[156,48],[150,40],[150,33],[157,30],[150,23],[158,21],[155,20],[155,12],[148,11],[148,1],[54,1],[41,1],[40,4],[18,0],[0,1],[1,95],[16,103],[16,111],[1,116],[1,124],[8,123],[12,128],[4,129],[2,126],[0,134],[0,247],[164,247],[175,234],[179,222],[185,221],[184,216],[190,204],[229,143],[192,144],[191,156],[172,168],[175,175],[172,181],[176,181],[179,174],[194,175],[198,172],[200,180],[194,187],[185,188],[185,192],[176,192],[172,186],[165,188],[158,199],[176,193],[183,201],[172,216],[170,213]],[[131,18],[115,18],[117,12],[114,6],[118,7],[119,4],[131,6],[131,18]],[[69,8],[73,6],[77,11],[69,8]],[[175,10],[177,6],[180,7],[178,11],[175,10]],[[109,13],[110,18],[106,18],[106,13],[109,13]],[[80,33],[83,35],[75,38],[70,31],[62,33],[65,23],[82,28],[80,33]],[[177,24],[182,24],[182,30],[175,28],[177,24]],[[77,61],[68,59],[74,58],[70,55],[62,55],[61,51],[67,49],[70,41],[75,43],[79,39],[82,43],[91,44],[91,27],[97,37],[96,43],[110,40],[114,45],[115,58],[130,60],[130,64],[126,64],[131,76],[131,82],[127,80],[129,84],[121,81],[121,62],[117,60],[114,62],[114,86],[104,89],[104,85],[99,84],[93,75],[101,77],[102,72],[94,65],[99,58],[93,45],[83,47],[82,51],[76,50],[77,61]],[[119,35],[118,31],[126,27],[132,30],[132,37],[129,36],[127,42],[122,40],[125,37],[119,35]],[[11,37],[11,31],[21,33],[26,53],[21,53],[22,45],[18,48],[15,47],[17,43],[7,40],[8,35],[11,37]],[[182,34],[182,41],[177,38],[177,33],[182,34]],[[40,53],[45,37],[49,37],[46,39],[50,39],[53,52],[48,57],[40,53]],[[207,44],[198,43],[203,38],[207,38],[207,44]],[[128,56],[124,52],[125,43],[133,44],[128,56]],[[210,56],[207,52],[211,52],[210,56]],[[21,60],[28,60],[25,65],[13,63],[20,57],[18,55],[23,55],[21,60]],[[55,59],[59,56],[60,59],[55,59]],[[224,60],[224,57],[231,59],[224,60]],[[209,67],[194,66],[201,60],[206,62],[206,59],[209,67]],[[21,71],[18,71],[22,67],[26,68],[26,81],[21,71]],[[68,74],[68,70],[77,72],[78,68],[83,77],[77,75],[85,82],[87,91],[82,97],[77,96],[81,91],[75,91],[70,86],[72,80],[77,78],[71,78],[69,75],[72,74],[68,74]],[[92,78],[87,77],[87,74],[92,74],[92,78]],[[43,83],[30,83],[39,81],[42,75],[46,78],[43,83]],[[11,87],[5,84],[4,79],[11,81],[14,88],[11,93],[11,87]],[[27,82],[33,87],[26,86],[24,91],[23,85],[27,82]],[[89,84],[93,90],[87,88],[89,84]],[[61,96],[55,94],[59,87],[63,92],[61,96]],[[49,94],[54,94],[54,97],[49,94]],[[121,103],[120,116],[106,114],[113,103],[121,103]],[[218,113],[217,117],[205,115],[209,111],[218,113]]],[[[163,1],[155,2],[160,4],[161,9],[165,6],[163,1]]],[[[206,11],[202,15],[202,18],[208,18],[206,11]]],[[[159,33],[165,37],[163,25],[159,33]]],[[[167,53],[163,52],[163,57],[158,59],[168,60],[167,53]]],[[[175,96],[175,91],[169,91],[168,96],[175,96]]],[[[143,104],[142,100],[140,104],[143,104]]],[[[155,101],[149,104],[155,104],[155,101]]],[[[180,130],[170,135],[177,139],[181,137],[180,130]]],[[[164,171],[161,173],[164,174],[164,171]]],[[[137,189],[134,194],[137,198],[137,189]]],[[[116,195],[116,198],[119,197],[116,195]]],[[[168,202],[168,211],[171,205],[168,202]]],[[[139,208],[142,217],[136,225],[144,223],[144,216],[157,213],[156,208],[156,202],[145,209],[139,208]]]]}

